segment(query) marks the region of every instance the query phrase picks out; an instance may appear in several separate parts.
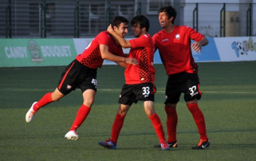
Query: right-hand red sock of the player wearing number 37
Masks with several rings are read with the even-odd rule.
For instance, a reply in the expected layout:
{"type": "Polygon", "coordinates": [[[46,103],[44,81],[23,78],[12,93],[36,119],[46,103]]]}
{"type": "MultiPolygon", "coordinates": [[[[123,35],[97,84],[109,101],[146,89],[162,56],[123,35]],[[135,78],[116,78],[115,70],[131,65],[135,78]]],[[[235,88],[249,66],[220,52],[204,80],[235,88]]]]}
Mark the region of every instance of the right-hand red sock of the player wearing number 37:
{"type": "Polygon", "coordinates": [[[187,107],[191,112],[191,114],[193,115],[198,132],[200,134],[200,139],[206,140],[207,139],[206,126],[205,126],[205,120],[204,120],[204,115],[202,111],[198,108],[198,105],[195,103],[188,104],[187,107]]]}

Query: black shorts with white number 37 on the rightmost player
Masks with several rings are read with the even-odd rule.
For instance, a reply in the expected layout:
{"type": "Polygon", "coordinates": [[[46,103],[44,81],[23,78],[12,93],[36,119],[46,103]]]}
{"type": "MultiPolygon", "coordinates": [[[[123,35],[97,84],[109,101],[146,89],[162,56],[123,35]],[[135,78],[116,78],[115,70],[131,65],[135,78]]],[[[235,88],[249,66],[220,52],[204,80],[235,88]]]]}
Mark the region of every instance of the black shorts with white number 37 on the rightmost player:
{"type": "Polygon", "coordinates": [[[165,89],[165,104],[178,103],[182,93],[184,93],[184,100],[186,102],[195,98],[201,99],[202,93],[199,86],[200,82],[197,74],[183,72],[169,75],[165,89]]]}

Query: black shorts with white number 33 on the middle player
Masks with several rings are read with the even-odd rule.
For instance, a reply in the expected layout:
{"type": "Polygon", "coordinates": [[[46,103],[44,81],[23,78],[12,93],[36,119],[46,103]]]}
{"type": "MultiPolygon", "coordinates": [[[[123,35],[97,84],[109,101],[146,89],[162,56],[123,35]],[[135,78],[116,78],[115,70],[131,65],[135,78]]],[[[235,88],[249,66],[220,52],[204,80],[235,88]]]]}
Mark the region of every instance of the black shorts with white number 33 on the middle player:
{"type": "Polygon", "coordinates": [[[154,102],[156,87],[152,83],[141,83],[122,86],[121,94],[119,97],[119,104],[131,105],[137,103],[138,100],[146,101],[151,100],[154,102]]]}

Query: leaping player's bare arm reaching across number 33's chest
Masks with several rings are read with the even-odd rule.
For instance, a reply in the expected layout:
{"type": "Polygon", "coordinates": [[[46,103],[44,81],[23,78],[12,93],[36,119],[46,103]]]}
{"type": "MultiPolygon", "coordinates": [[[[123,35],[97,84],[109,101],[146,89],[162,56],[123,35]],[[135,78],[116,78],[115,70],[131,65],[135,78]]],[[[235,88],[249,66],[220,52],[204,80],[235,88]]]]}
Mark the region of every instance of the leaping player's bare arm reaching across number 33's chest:
{"type": "Polygon", "coordinates": [[[107,45],[100,44],[100,53],[102,59],[107,59],[112,62],[128,63],[132,65],[138,64],[138,61],[135,58],[122,57],[110,53],[107,45]]]}

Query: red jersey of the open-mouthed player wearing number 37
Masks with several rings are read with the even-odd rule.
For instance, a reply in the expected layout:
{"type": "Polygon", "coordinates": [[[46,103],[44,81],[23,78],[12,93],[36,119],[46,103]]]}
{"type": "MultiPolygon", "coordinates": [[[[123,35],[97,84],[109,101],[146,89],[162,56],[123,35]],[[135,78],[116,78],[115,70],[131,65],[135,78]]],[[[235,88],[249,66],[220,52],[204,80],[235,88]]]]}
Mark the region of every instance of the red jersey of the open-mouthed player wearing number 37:
{"type": "Polygon", "coordinates": [[[198,42],[204,36],[188,26],[174,26],[170,33],[164,30],[153,36],[167,75],[181,72],[197,73],[197,64],[191,52],[191,39],[198,42]]]}

